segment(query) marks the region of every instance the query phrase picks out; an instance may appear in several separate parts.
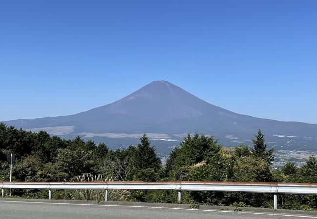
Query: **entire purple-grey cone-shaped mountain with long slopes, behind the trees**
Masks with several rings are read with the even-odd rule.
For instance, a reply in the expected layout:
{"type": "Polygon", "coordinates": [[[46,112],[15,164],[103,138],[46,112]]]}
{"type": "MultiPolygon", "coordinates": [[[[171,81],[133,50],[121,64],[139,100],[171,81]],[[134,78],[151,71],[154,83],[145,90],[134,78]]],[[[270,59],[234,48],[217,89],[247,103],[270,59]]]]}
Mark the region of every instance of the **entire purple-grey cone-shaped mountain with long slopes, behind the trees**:
{"type": "Polygon", "coordinates": [[[249,141],[258,128],[273,141],[281,136],[317,137],[317,125],[241,115],[207,103],[167,81],[153,81],[114,103],[74,115],[4,123],[32,131],[45,129],[64,137],[133,137],[146,132],[181,139],[188,132],[197,131],[236,145],[249,141]]]}

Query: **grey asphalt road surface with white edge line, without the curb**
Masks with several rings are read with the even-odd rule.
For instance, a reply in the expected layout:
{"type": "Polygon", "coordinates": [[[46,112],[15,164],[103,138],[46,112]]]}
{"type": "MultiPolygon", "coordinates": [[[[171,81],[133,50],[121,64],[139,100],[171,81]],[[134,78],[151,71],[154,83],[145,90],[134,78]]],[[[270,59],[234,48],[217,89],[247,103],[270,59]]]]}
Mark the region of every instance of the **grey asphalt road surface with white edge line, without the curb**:
{"type": "Polygon", "coordinates": [[[317,216],[91,203],[0,200],[1,219],[303,219],[317,216]]]}

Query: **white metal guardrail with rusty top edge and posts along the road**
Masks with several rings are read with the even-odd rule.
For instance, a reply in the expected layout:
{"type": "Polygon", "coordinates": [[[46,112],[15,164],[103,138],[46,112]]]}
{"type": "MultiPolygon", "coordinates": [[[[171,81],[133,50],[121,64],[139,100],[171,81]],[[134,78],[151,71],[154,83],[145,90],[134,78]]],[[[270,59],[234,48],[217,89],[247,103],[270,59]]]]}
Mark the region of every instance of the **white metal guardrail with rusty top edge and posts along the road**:
{"type": "Polygon", "coordinates": [[[244,183],[244,182],[0,182],[2,198],[5,188],[48,189],[105,189],[108,201],[109,189],[132,190],[177,190],[181,191],[253,192],[273,193],[274,209],[277,209],[277,194],[317,194],[317,183],[244,183]]]}

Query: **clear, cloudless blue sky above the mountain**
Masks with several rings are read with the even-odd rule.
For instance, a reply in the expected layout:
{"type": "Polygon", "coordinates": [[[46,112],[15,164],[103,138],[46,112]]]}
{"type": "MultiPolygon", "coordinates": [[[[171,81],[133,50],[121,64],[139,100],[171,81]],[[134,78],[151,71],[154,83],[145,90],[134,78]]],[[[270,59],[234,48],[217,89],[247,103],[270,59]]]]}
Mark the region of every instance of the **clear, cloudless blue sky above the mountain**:
{"type": "Polygon", "coordinates": [[[317,1],[0,3],[0,121],[89,110],[153,80],[317,124],[317,1]]]}

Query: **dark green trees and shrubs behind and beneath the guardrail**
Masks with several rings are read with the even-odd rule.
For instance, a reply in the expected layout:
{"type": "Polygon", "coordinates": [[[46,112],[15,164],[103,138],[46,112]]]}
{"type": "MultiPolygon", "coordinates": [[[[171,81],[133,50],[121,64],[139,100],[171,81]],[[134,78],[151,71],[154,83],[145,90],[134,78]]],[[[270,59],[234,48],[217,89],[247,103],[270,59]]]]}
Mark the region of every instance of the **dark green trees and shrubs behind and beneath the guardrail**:
{"type": "MultiPolygon", "coordinates": [[[[0,123],[0,181],[9,181],[6,154],[12,151],[17,160],[14,181],[221,181],[221,182],[293,182],[317,183],[317,160],[310,157],[297,167],[288,162],[280,170],[272,169],[273,149],[267,148],[258,130],[252,146],[223,147],[204,134],[187,135],[175,147],[162,166],[148,137],[140,144],[121,150],[109,150],[101,143],[51,137],[46,131],[32,133],[0,123]]],[[[55,191],[55,199],[100,200],[102,192],[55,191]],[[82,194],[85,194],[83,196],[82,194]]],[[[25,198],[47,198],[40,190],[15,190],[25,198]]],[[[233,206],[272,207],[273,195],[238,192],[183,192],[182,202],[233,206]]],[[[177,192],[112,191],[114,200],[176,203],[177,192]],[[117,198],[116,198],[117,197],[117,198]]],[[[279,207],[317,209],[315,195],[280,195],[279,207]],[[282,200],[281,200],[282,199],[282,200]]]]}

